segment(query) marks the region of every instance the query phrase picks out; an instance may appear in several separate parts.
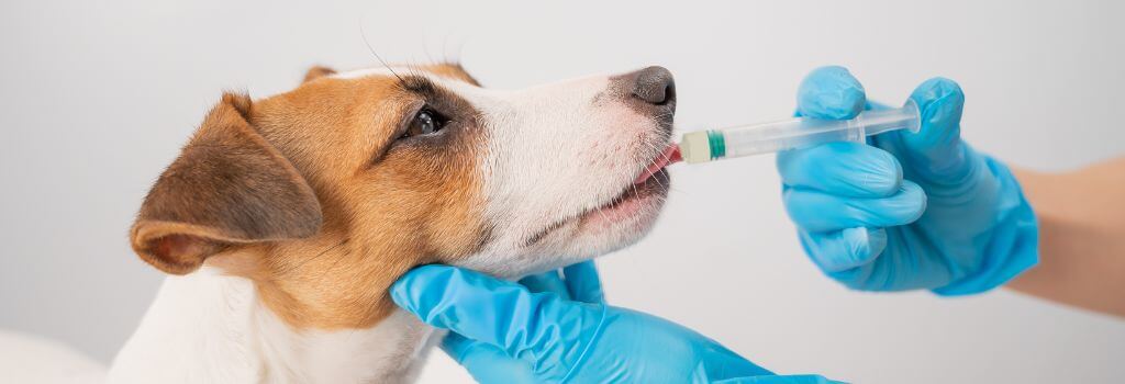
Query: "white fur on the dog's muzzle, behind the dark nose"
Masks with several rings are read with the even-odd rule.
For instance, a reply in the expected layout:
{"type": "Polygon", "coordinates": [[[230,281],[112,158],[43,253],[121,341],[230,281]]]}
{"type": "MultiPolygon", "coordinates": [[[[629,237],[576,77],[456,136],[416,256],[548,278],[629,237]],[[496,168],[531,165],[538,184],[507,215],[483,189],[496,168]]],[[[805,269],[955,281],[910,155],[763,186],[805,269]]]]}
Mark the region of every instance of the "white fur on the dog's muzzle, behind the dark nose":
{"type": "Polygon", "coordinates": [[[497,237],[461,266],[508,277],[548,271],[620,249],[650,228],[657,208],[609,227],[583,228],[577,220],[631,188],[666,145],[658,124],[626,106],[610,77],[518,91],[438,82],[482,112],[488,139],[480,167],[488,172],[485,220],[497,237]],[[561,220],[542,240],[525,244],[561,220]]]}

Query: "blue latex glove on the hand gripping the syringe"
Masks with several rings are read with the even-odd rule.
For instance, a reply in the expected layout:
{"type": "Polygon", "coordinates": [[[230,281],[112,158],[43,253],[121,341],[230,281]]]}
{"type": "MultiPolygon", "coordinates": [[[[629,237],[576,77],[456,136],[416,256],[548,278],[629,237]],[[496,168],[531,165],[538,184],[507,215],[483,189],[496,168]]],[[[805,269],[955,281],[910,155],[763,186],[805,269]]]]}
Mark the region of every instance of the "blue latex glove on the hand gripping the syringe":
{"type": "MultiPolygon", "coordinates": [[[[987,291],[1035,265],[1035,214],[1019,183],[961,140],[961,88],[932,79],[910,98],[921,113],[918,134],[777,155],[806,253],[852,289],[943,295],[987,291]]],[[[838,66],[813,71],[798,92],[801,116],[850,119],[872,107],[838,66]]]]}

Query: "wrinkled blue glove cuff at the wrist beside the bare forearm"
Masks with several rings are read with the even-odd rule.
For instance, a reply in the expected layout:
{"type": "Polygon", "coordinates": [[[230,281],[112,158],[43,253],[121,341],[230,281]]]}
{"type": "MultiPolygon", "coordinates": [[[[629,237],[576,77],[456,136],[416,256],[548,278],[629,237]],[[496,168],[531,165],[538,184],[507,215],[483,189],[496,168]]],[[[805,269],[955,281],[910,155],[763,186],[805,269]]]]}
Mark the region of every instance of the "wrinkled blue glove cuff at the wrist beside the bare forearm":
{"type": "MultiPolygon", "coordinates": [[[[971,149],[970,149],[971,150],[971,149]]],[[[1002,163],[981,156],[990,176],[999,182],[997,219],[978,271],[934,289],[943,296],[975,294],[1004,285],[1040,260],[1038,222],[1016,176],[1002,163]]]]}

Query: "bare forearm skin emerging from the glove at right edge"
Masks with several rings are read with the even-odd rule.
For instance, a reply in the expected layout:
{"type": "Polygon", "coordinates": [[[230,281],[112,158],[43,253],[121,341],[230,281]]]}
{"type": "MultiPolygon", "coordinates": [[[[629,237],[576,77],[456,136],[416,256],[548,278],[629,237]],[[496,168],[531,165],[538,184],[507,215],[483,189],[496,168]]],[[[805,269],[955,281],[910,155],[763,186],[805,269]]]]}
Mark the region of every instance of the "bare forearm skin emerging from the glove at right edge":
{"type": "Polygon", "coordinates": [[[1061,174],[1015,172],[1038,219],[1040,264],[1007,287],[1125,317],[1125,157],[1061,174]]]}

